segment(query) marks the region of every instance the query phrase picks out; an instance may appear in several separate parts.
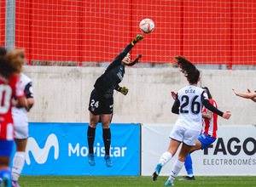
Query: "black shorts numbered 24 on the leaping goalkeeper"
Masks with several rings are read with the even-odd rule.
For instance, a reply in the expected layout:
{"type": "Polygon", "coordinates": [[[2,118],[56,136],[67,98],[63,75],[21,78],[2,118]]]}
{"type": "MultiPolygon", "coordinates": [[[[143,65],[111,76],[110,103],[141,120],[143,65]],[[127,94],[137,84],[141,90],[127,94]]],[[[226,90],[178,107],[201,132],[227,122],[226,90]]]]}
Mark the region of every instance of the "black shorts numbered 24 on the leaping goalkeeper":
{"type": "Polygon", "coordinates": [[[88,110],[93,115],[112,114],[113,113],[113,97],[104,98],[102,95],[96,92],[96,89],[92,90],[90,94],[89,108],[88,110]]]}

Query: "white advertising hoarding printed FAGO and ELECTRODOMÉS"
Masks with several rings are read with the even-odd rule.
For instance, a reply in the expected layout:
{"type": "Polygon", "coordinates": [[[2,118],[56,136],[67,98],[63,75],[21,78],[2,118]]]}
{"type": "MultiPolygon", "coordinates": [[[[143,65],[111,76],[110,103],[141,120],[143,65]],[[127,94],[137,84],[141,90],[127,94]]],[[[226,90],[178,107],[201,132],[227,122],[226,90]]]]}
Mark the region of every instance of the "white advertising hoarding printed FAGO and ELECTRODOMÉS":
{"type": "MultiPolygon", "coordinates": [[[[173,124],[142,125],[142,175],[152,175],[160,156],[167,150],[173,124]]],[[[177,159],[162,168],[169,175],[177,159]]],[[[205,150],[191,154],[195,175],[256,175],[255,125],[218,125],[218,137],[205,150]]],[[[179,175],[185,175],[183,167],[179,175]]]]}

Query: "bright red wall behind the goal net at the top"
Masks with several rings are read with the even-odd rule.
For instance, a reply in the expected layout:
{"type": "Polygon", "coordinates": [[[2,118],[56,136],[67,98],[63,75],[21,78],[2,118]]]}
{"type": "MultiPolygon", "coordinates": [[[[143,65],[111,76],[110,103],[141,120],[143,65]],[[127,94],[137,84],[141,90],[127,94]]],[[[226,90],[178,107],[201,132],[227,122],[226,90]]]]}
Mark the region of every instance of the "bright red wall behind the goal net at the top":
{"type": "Polygon", "coordinates": [[[41,2],[16,1],[15,45],[29,60],[112,61],[150,18],[154,32],[132,49],[143,62],[170,63],[183,55],[197,64],[256,65],[253,0],[41,2]]]}

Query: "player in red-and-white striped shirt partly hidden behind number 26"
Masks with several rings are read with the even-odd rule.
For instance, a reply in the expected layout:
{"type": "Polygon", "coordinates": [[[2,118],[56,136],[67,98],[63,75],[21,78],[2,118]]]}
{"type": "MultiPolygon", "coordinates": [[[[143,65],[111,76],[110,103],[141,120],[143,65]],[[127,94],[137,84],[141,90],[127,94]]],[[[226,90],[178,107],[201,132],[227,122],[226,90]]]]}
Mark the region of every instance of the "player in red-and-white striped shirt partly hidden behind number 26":
{"type": "MultiPolygon", "coordinates": [[[[210,93],[209,89],[207,87],[203,87],[203,89],[207,92],[209,102],[215,107],[217,107],[217,104],[215,100],[212,99],[212,94],[210,93]]],[[[194,152],[195,150],[204,150],[207,146],[210,144],[213,144],[215,142],[217,137],[217,120],[218,115],[213,113],[212,111],[209,111],[204,105],[201,110],[202,113],[202,128],[201,133],[195,143],[195,146],[193,146],[192,150],[190,151],[189,155],[187,156],[184,166],[187,171],[187,176],[185,178],[180,178],[179,180],[195,180],[195,176],[193,173],[193,167],[192,167],[192,159],[190,154],[194,152]]]]}

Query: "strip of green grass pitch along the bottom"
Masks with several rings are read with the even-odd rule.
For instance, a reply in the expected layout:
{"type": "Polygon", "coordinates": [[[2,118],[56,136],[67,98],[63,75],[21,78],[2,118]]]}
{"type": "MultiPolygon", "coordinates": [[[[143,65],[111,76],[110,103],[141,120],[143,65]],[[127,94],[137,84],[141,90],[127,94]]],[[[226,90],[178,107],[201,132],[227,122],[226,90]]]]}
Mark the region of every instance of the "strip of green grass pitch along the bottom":
{"type": "MultiPolygon", "coordinates": [[[[165,186],[167,176],[160,176],[153,181],[150,176],[20,176],[19,184],[24,187],[96,187],[96,186],[165,186]]],[[[256,176],[195,176],[193,181],[179,181],[178,176],[173,184],[178,187],[245,187],[256,186],[256,176]]]]}

